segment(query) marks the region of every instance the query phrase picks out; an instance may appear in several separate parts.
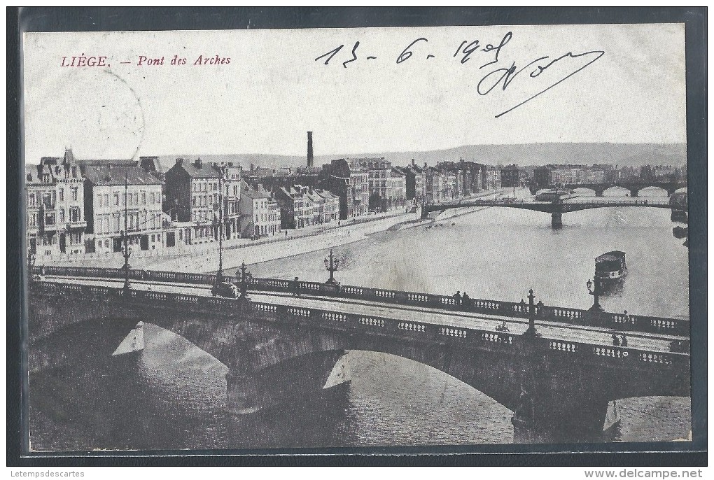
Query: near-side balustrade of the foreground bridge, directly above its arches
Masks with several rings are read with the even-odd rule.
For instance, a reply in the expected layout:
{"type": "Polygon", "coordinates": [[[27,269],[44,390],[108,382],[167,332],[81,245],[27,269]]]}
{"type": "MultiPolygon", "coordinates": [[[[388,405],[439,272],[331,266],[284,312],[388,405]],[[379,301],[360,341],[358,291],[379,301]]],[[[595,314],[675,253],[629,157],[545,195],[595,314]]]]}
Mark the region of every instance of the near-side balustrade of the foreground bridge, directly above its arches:
{"type": "MultiPolygon", "coordinates": [[[[113,287],[95,287],[64,282],[39,282],[34,286],[49,295],[76,295],[87,300],[106,302],[109,298],[118,301],[124,298],[124,290],[113,287]]],[[[131,300],[136,305],[147,307],[174,307],[186,312],[210,313],[212,315],[241,315],[241,299],[207,297],[169,292],[131,290],[131,300]]],[[[631,347],[613,347],[603,344],[572,342],[547,337],[525,338],[508,332],[495,332],[452,325],[438,325],[411,320],[396,320],[374,315],[359,315],[346,312],[332,312],[311,307],[274,305],[252,302],[257,312],[269,315],[267,320],[315,328],[347,332],[376,333],[391,337],[418,339],[423,342],[452,342],[459,347],[497,350],[512,354],[542,352],[543,354],[565,355],[574,361],[599,362],[613,365],[635,364],[640,367],[688,368],[689,355],[675,352],[655,352],[631,347]]]]}

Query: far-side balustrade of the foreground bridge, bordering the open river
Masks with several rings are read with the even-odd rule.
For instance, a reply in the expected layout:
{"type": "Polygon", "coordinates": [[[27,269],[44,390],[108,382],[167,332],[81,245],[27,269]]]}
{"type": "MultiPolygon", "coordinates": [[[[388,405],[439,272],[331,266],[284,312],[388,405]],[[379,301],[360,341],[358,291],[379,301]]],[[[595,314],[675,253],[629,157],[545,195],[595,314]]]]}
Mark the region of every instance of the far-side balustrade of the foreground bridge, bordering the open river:
{"type": "MultiPolygon", "coordinates": [[[[122,278],[124,271],[118,268],[96,267],[33,267],[34,273],[44,269],[47,275],[122,278]]],[[[154,270],[130,270],[129,277],[134,280],[157,280],[164,282],[186,283],[191,285],[211,285],[216,276],[189,272],[162,272],[154,270]]],[[[234,277],[226,277],[229,281],[234,277]]],[[[414,307],[427,307],[455,312],[482,313],[505,317],[528,318],[528,305],[521,302],[505,300],[488,300],[471,298],[468,305],[458,304],[456,299],[448,295],[436,295],[424,292],[406,292],[387,290],[355,285],[326,285],[321,282],[298,281],[276,278],[253,277],[248,283],[251,290],[264,292],[288,292],[321,295],[326,297],[350,298],[356,300],[372,300],[375,302],[393,303],[414,307]]],[[[563,322],[569,324],[590,325],[594,327],[612,328],[621,331],[649,332],[664,335],[688,336],[689,320],[681,318],[652,317],[647,315],[625,315],[612,312],[593,313],[570,307],[552,305],[537,305],[535,318],[540,322],[563,322]]]]}

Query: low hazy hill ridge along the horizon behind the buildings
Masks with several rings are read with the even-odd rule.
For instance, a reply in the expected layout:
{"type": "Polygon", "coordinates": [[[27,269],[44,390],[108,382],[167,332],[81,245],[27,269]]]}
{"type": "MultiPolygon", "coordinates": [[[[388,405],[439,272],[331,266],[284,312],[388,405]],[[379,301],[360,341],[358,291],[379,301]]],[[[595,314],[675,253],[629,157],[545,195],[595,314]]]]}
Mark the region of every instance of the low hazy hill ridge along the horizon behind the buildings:
{"type": "MultiPolygon", "coordinates": [[[[263,168],[296,167],[306,165],[304,155],[268,155],[264,153],[238,153],[233,155],[161,155],[161,165],[171,168],[181,156],[204,161],[232,161],[244,169],[253,165],[263,168]]],[[[464,145],[446,150],[425,152],[374,152],[317,155],[315,165],[329,163],[335,158],[384,157],[393,165],[406,165],[411,159],[418,165],[436,165],[441,161],[458,161],[459,158],[488,165],[545,165],[547,163],[610,163],[613,165],[639,167],[641,165],[685,165],[687,149],[684,143],[527,143],[516,145],[464,145]]]]}

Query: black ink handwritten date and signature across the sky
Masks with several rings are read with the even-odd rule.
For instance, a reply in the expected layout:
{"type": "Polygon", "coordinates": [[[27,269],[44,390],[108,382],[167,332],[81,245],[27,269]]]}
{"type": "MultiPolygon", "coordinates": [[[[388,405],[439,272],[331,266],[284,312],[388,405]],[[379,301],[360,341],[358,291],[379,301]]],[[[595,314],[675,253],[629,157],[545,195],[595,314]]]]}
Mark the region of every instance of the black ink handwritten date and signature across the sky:
{"type": "MultiPolygon", "coordinates": [[[[503,47],[505,47],[509,41],[513,38],[513,32],[508,32],[506,35],[503,36],[503,39],[498,44],[486,44],[486,45],[481,45],[478,40],[474,41],[467,41],[464,40],[461,42],[461,44],[456,48],[456,53],[453,54],[453,57],[458,57],[461,56],[460,58],[460,63],[465,64],[468,61],[470,61],[472,58],[476,58],[476,56],[471,56],[472,54],[475,53],[490,53],[493,52],[493,58],[490,61],[487,61],[486,63],[483,63],[481,66],[478,67],[479,70],[486,68],[488,66],[498,66],[501,63],[501,59],[498,58],[499,55],[501,54],[501,51],[503,50],[503,47]]],[[[357,54],[358,47],[360,46],[360,42],[356,41],[354,46],[352,47],[351,50],[351,58],[348,58],[346,61],[342,62],[342,66],[344,68],[347,68],[348,63],[352,63],[354,61],[357,61],[359,59],[359,56],[357,54]]],[[[328,65],[332,58],[337,55],[339,51],[344,47],[344,45],[340,45],[337,48],[334,48],[331,51],[328,51],[327,53],[318,56],[315,58],[315,61],[325,59],[324,65],[328,65]]],[[[397,56],[396,58],[396,63],[401,64],[413,56],[415,58],[419,58],[418,55],[416,55],[417,51],[419,50],[419,53],[425,53],[426,52],[426,60],[431,60],[431,58],[436,58],[436,55],[428,51],[428,39],[424,37],[419,37],[418,39],[414,40],[409,44],[404,50],[397,56]]],[[[560,65],[565,65],[566,63],[572,63],[573,61],[577,61],[578,59],[580,60],[586,60],[586,63],[581,64],[581,63],[575,63],[573,65],[572,71],[569,71],[565,76],[559,77],[556,81],[553,83],[550,83],[549,86],[546,88],[543,88],[543,90],[539,91],[538,93],[535,93],[535,95],[530,96],[526,98],[525,100],[521,101],[521,103],[518,103],[516,106],[513,106],[511,108],[508,108],[508,110],[503,111],[501,113],[498,113],[496,115],[496,118],[501,117],[503,115],[506,115],[506,113],[511,112],[515,110],[516,108],[523,106],[524,104],[528,103],[529,101],[533,100],[534,98],[537,98],[538,96],[542,95],[543,93],[547,92],[550,90],[550,88],[553,88],[557,86],[559,83],[562,83],[563,81],[567,80],[571,76],[575,75],[575,73],[578,73],[579,71],[582,71],[583,69],[587,68],[590,66],[592,63],[595,61],[598,61],[599,58],[601,58],[603,55],[605,55],[605,51],[603,50],[591,50],[591,51],[585,51],[581,53],[573,53],[572,51],[569,51],[568,53],[565,53],[563,55],[560,55],[556,58],[553,58],[552,56],[540,56],[538,58],[535,58],[535,60],[526,63],[524,66],[517,66],[516,62],[511,62],[511,66],[503,66],[499,68],[494,68],[491,71],[488,71],[485,75],[481,77],[481,79],[478,81],[478,84],[476,86],[476,93],[478,93],[481,96],[486,96],[492,91],[496,89],[499,85],[501,86],[501,91],[506,91],[506,88],[511,86],[511,83],[518,77],[520,73],[523,71],[528,71],[528,76],[526,78],[538,78],[543,72],[547,71],[548,68],[554,66],[555,64],[560,64],[560,65]]],[[[363,57],[366,60],[376,60],[376,56],[366,56],[363,57]]],[[[421,56],[421,58],[424,58],[421,56]]]]}

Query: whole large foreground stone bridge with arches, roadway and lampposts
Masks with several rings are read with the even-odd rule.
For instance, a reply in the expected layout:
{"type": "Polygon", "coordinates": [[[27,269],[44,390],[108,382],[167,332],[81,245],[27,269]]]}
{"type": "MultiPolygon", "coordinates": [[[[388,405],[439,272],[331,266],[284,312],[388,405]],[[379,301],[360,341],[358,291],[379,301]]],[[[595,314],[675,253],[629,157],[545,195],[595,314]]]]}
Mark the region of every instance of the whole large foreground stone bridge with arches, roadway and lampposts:
{"type": "Polygon", "coordinates": [[[690,394],[689,355],[670,351],[670,342],[687,341],[688,320],[548,307],[534,297],[458,305],[441,295],[280,279],[251,279],[251,300],[228,299],[211,296],[213,275],[131,270],[131,290],[123,290],[122,273],[45,267],[45,280],[31,284],[31,338],[97,318],[155,323],[228,366],[238,414],[270,404],[263,372],[295,362],[321,369],[346,350],[395,354],[461,379],[514,412],[518,441],[595,439],[612,400],[690,394]],[[497,329],[502,322],[509,331],[497,329]],[[613,346],[613,330],[628,332],[628,347],[613,346]]]}

